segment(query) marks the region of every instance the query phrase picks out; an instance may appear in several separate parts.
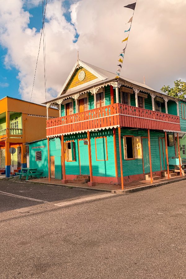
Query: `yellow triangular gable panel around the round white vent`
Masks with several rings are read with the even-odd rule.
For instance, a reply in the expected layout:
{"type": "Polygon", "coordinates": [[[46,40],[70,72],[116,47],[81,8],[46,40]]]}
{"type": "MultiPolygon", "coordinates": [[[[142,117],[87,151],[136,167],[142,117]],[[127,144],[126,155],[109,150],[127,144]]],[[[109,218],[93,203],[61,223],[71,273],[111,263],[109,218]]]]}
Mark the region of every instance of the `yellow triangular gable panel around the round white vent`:
{"type": "Polygon", "coordinates": [[[65,90],[71,89],[73,87],[76,87],[78,85],[82,85],[83,83],[86,82],[90,82],[93,79],[96,79],[97,77],[95,75],[93,75],[91,72],[87,71],[85,68],[83,67],[79,67],[79,69],[76,69],[75,73],[73,74],[72,78],[70,79],[69,83],[67,84],[65,90]],[[85,77],[84,77],[84,73],[82,73],[81,78],[84,77],[83,80],[79,80],[79,73],[83,71],[85,73],[85,77]]]}

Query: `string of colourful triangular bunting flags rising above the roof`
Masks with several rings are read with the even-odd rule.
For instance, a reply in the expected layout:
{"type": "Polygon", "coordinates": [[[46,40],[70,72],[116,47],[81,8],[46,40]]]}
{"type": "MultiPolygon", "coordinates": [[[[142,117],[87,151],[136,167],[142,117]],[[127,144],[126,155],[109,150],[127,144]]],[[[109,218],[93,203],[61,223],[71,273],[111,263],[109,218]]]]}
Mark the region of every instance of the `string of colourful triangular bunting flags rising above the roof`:
{"type": "MultiPolygon", "coordinates": [[[[133,10],[133,15],[134,15],[135,7],[136,7],[136,2],[124,6],[124,8],[132,9],[133,10]]],[[[132,25],[133,15],[132,15],[132,17],[130,18],[130,20],[126,24],[131,23],[131,25],[132,25]]],[[[122,42],[126,42],[126,46],[127,46],[127,43],[128,43],[128,38],[129,38],[130,31],[131,31],[131,26],[130,26],[130,28],[128,30],[124,31],[124,33],[129,32],[128,33],[128,37],[126,37],[124,40],[122,40],[122,42]]],[[[124,55],[125,55],[125,51],[126,51],[126,46],[123,49],[123,51],[120,52],[119,59],[117,60],[118,62],[120,62],[120,64],[117,64],[117,66],[119,66],[119,68],[116,70],[116,74],[117,74],[116,78],[119,78],[119,76],[120,76],[120,72],[121,72],[122,64],[123,64],[123,59],[124,59],[124,55]]]]}

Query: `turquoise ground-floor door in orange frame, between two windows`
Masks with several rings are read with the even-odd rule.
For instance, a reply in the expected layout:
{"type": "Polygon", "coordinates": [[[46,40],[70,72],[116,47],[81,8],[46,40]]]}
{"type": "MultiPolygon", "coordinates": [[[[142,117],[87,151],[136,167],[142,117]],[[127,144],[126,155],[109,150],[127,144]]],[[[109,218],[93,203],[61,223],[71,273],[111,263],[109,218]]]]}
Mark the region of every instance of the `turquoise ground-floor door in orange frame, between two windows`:
{"type": "Polygon", "coordinates": [[[79,140],[80,174],[90,175],[87,139],[79,140]]]}

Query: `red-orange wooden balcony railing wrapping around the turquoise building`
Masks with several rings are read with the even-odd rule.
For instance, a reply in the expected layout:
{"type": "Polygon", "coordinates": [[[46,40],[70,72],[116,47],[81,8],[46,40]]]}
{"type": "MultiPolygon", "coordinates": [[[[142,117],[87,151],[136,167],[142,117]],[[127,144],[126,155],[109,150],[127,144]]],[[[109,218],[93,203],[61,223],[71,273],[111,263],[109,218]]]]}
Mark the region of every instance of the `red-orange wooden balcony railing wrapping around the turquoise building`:
{"type": "Polygon", "coordinates": [[[47,136],[108,127],[180,131],[180,122],[179,116],[117,103],[47,120],[47,136]]]}

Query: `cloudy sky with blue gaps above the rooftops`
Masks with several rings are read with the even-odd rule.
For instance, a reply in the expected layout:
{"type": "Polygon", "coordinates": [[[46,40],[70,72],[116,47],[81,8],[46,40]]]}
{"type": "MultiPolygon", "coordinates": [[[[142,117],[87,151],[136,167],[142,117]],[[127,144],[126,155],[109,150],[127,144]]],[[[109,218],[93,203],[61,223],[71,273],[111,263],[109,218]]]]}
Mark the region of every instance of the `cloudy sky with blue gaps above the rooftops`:
{"type": "MultiPolygon", "coordinates": [[[[46,3],[46,0],[44,1],[46,3]]],[[[57,96],[76,60],[114,72],[132,0],[48,0],[32,101],[57,96]]],[[[160,92],[186,81],[186,0],[137,0],[121,76],[160,92]]],[[[30,100],[42,28],[41,0],[0,1],[0,98],[30,100]]]]}

